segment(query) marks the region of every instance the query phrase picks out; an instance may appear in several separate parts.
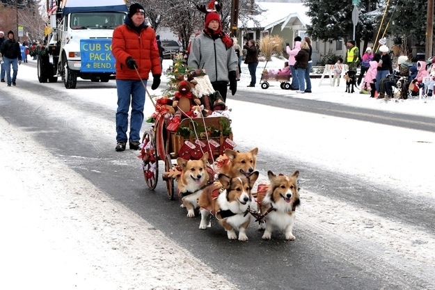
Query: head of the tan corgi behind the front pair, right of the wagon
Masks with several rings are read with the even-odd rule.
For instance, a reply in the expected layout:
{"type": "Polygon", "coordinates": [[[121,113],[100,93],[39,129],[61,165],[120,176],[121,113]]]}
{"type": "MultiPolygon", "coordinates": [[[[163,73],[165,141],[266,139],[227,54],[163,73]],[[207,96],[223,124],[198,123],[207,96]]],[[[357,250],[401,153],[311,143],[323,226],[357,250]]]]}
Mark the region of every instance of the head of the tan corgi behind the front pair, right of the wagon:
{"type": "Polygon", "coordinates": [[[220,173],[229,177],[248,177],[255,170],[257,162],[258,148],[249,152],[237,152],[226,149],[225,154],[228,157],[221,166],[220,173]]]}

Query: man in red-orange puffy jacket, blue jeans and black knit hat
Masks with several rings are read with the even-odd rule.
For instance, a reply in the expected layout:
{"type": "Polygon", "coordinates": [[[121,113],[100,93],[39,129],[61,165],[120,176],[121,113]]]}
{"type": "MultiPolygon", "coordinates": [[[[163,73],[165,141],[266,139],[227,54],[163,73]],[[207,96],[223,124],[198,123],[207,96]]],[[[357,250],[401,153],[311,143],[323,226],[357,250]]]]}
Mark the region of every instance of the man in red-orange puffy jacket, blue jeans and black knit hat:
{"type": "Polygon", "coordinates": [[[116,59],[116,148],[120,152],[127,144],[128,111],[130,117],[129,148],[139,150],[139,140],[145,106],[145,86],[152,72],[152,90],[160,85],[161,65],[154,29],[145,25],[145,10],[134,3],[123,25],[113,31],[112,54],[116,59]],[[143,83],[142,81],[143,80],[143,83]]]}

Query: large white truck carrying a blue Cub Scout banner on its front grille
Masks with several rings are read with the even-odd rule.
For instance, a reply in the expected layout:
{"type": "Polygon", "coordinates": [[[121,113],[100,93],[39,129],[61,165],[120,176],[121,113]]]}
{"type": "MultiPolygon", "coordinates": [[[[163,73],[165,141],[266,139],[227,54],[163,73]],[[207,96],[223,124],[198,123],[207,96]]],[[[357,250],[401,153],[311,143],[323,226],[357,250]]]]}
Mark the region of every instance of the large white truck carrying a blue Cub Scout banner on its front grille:
{"type": "Polygon", "coordinates": [[[75,88],[77,78],[107,82],[115,77],[111,54],[113,29],[124,23],[124,0],[50,0],[52,32],[47,54],[38,55],[40,83],[56,82],[75,88]]]}

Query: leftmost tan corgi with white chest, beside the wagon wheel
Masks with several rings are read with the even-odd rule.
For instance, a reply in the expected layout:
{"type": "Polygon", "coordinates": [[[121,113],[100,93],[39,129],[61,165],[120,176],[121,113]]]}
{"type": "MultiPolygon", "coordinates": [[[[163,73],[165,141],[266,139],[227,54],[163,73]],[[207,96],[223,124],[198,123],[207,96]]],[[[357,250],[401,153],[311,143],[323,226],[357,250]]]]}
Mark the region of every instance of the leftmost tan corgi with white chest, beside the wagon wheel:
{"type": "Polygon", "coordinates": [[[182,172],[177,179],[178,194],[183,206],[187,209],[187,217],[195,216],[195,209],[198,208],[198,198],[203,189],[209,184],[209,173],[207,172],[208,152],[205,152],[200,160],[189,160],[177,158],[177,164],[182,172]]]}

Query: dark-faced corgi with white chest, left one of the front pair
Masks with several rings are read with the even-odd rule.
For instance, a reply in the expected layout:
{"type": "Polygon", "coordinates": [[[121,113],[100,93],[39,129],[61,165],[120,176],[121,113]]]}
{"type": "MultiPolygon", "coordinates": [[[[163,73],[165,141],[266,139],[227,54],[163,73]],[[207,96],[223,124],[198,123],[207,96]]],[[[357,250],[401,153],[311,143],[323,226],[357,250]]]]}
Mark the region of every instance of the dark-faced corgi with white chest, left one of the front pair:
{"type": "Polygon", "coordinates": [[[251,172],[249,177],[234,177],[219,174],[222,188],[208,186],[201,193],[198,200],[200,206],[200,229],[207,229],[207,218],[212,213],[226,230],[228,239],[237,239],[236,230],[239,231],[239,241],[248,241],[246,228],[251,221],[249,210],[255,206],[251,195],[251,188],[258,179],[258,171],[251,172]],[[217,197],[214,197],[214,189],[217,197]],[[252,204],[251,204],[252,203],[252,204]]]}

